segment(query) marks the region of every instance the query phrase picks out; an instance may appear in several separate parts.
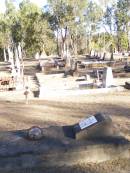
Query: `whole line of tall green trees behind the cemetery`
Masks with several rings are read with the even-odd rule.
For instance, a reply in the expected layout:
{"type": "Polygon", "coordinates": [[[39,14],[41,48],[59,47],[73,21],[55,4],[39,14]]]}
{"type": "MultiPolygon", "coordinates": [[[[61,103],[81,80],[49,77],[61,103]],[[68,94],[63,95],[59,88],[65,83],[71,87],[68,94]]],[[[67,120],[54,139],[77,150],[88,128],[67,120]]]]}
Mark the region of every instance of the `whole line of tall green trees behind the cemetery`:
{"type": "Polygon", "coordinates": [[[48,0],[39,8],[6,0],[0,13],[0,58],[21,46],[24,57],[130,50],[130,1],[48,0]]]}

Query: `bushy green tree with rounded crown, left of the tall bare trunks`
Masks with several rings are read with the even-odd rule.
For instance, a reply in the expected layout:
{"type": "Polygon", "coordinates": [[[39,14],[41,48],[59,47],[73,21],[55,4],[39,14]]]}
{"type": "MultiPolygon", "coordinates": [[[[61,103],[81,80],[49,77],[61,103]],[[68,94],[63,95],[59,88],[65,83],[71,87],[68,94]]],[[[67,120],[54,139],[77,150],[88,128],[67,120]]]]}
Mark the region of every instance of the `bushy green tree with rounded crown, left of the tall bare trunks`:
{"type": "Polygon", "coordinates": [[[54,33],[42,10],[29,1],[20,4],[21,40],[28,56],[43,49],[49,54],[55,50],[54,33]]]}

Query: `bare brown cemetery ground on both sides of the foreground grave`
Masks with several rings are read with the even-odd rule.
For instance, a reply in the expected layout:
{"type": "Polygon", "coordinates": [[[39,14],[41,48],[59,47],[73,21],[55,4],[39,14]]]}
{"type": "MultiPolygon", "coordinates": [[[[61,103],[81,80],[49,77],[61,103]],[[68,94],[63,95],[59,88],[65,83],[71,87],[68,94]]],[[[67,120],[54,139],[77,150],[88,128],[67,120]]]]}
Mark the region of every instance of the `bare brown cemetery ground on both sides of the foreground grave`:
{"type": "MultiPolygon", "coordinates": [[[[28,66],[33,68],[33,65],[31,63],[28,66]]],[[[55,100],[30,98],[29,104],[25,104],[23,93],[14,93],[12,98],[6,95],[0,99],[0,131],[29,129],[31,126],[44,128],[53,125],[71,125],[97,112],[109,114],[121,135],[130,140],[129,90],[55,100]]],[[[128,173],[129,171],[130,160],[118,159],[100,164],[79,163],[73,167],[21,170],[21,173],[128,173]]]]}

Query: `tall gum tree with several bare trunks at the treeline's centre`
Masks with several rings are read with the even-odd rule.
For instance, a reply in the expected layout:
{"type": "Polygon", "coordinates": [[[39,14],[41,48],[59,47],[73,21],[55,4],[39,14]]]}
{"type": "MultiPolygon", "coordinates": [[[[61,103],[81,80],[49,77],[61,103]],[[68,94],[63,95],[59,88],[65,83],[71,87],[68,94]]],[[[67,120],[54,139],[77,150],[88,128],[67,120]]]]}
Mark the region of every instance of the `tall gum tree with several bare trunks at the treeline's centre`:
{"type": "MultiPolygon", "coordinates": [[[[51,24],[57,32],[57,41],[60,42],[58,50],[64,58],[68,49],[75,49],[77,44],[78,23],[81,23],[83,11],[86,8],[86,0],[49,0],[51,24]],[[76,21],[78,19],[78,21],[76,21]]],[[[72,51],[72,50],[69,50],[72,51]]],[[[73,52],[77,52],[74,51],[73,52]]],[[[77,53],[75,53],[77,54],[77,53]]]]}

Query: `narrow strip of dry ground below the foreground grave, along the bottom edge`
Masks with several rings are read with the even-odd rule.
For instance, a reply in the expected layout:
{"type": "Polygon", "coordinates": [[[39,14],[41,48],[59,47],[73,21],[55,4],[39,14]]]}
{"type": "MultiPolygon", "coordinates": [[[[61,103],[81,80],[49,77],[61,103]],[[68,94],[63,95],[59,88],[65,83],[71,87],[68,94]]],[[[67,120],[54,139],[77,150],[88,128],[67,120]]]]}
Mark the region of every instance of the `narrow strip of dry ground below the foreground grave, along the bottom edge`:
{"type": "MultiPolygon", "coordinates": [[[[18,173],[129,173],[130,160],[114,160],[100,164],[78,164],[73,167],[26,169],[18,173]]],[[[8,172],[12,173],[12,172],[8,172]]]]}

